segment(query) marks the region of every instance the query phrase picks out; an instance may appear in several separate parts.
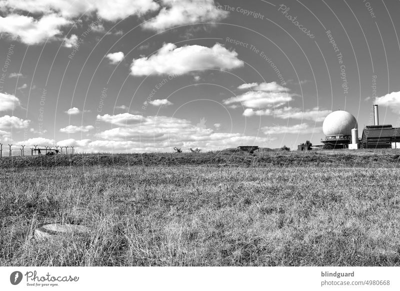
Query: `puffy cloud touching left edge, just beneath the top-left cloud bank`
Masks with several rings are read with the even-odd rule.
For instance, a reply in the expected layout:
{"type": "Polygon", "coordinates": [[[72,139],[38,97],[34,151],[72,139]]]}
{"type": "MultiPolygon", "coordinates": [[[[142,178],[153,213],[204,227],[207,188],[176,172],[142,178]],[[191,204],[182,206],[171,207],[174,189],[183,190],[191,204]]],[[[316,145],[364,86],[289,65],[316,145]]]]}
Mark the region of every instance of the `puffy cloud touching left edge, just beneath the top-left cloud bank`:
{"type": "Polygon", "coordinates": [[[9,14],[0,16],[0,32],[19,39],[25,44],[38,44],[61,33],[60,28],[70,24],[57,14],[44,15],[36,20],[31,16],[9,14]]]}

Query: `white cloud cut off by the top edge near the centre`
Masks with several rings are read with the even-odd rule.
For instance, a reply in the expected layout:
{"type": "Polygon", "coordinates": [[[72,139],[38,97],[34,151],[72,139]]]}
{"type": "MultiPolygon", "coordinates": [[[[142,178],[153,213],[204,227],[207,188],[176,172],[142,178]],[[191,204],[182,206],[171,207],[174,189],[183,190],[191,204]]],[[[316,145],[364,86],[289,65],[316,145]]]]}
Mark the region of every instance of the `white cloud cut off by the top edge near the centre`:
{"type": "Polygon", "coordinates": [[[225,18],[228,11],[217,9],[214,0],[162,0],[163,7],[143,27],[161,31],[166,28],[225,18]]]}

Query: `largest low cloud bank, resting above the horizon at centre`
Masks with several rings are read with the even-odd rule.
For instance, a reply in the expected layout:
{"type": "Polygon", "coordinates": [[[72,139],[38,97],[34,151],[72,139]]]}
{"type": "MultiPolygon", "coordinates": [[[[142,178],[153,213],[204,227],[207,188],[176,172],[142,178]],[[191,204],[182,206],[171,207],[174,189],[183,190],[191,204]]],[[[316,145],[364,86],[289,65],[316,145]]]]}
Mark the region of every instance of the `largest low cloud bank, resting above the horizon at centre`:
{"type": "MultiPolygon", "coordinates": [[[[269,137],[247,136],[232,132],[214,132],[210,128],[200,128],[189,120],[168,116],[141,116],[124,113],[126,118],[135,117],[134,122],[126,125],[121,114],[107,115],[108,123],[121,126],[100,131],[99,140],[88,144],[96,150],[120,151],[171,151],[173,146],[182,148],[201,147],[218,149],[240,144],[265,145],[269,137]],[[138,121],[138,119],[140,119],[138,121]],[[108,148],[107,148],[108,147],[108,148]]],[[[125,119],[126,119],[125,118],[125,119]]]]}

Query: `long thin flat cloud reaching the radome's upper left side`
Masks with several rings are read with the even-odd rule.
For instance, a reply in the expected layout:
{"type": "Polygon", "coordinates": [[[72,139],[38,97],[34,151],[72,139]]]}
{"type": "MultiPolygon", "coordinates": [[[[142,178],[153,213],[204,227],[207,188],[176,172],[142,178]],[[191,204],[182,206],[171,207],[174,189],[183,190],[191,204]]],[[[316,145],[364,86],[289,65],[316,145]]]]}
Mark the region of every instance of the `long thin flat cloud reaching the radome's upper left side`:
{"type": "Polygon", "coordinates": [[[252,108],[247,108],[244,110],[244,116],[261,116],[269,115],[282,119],[307,119],[316,122],[321,122],[325,119],[332,110],[319,110],[318,107],[302,111],[300,108],[284,107],[284,108],[266,108],[264,110],[253,110],[252,108]]]}

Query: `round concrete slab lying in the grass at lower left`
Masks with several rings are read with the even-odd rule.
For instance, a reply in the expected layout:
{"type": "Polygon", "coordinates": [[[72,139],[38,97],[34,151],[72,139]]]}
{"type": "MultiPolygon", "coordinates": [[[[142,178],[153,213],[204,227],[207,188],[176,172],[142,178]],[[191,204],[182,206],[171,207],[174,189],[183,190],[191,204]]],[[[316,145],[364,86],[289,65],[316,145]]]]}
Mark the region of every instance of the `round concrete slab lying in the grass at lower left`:
{"type": "Polygon", "coordinates": [[[51,238],[57,234],[87,233],[87,232],[89,232],[89,228],[84,225],[45,223],[39,225],[34,230],[34,237],[36,239],[44,239],[44,238],[51,238]]]}

